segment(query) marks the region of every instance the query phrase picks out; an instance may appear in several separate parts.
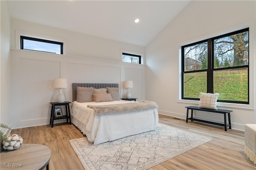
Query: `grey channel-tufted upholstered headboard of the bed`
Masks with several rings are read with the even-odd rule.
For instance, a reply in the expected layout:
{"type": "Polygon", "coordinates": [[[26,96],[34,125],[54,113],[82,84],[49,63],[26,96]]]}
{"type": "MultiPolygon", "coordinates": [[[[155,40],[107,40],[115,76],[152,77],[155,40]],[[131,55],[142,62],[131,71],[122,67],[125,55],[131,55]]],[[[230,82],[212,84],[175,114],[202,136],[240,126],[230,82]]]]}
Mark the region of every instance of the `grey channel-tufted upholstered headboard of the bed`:
{"type": "Polygon", "coordinates": [[[104,88],[104,87],[118,87],[116,83],[72,83],[72,100],[76,101],[76,87],[94,87],[94,88],[104,88]]]}

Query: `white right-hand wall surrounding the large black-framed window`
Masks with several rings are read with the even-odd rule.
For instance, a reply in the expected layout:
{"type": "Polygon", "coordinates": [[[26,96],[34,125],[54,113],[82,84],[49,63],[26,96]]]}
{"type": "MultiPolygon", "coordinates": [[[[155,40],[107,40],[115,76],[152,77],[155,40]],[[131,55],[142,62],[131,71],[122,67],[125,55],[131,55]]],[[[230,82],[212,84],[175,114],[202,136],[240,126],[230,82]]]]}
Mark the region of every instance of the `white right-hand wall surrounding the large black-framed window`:
{"type": "MultiPolygon", "coordinates": [[[[253,35],[250,37],[250,105],[255,107],[255,9],[255,1],[192,1],[146,46],[146,99],[158,103],[159,113],[185,119],[185,106],[198,106],[178,100],[179,47],[232,32],[247,22],[253,35]]],[[[244,130],[245,123],[256,123],[255,109],[218,108],[233,110],[231,122],[234,129],[244,130]]],[[[196,117],[223,123],[222,114],[198,111],[196,117]]]]}

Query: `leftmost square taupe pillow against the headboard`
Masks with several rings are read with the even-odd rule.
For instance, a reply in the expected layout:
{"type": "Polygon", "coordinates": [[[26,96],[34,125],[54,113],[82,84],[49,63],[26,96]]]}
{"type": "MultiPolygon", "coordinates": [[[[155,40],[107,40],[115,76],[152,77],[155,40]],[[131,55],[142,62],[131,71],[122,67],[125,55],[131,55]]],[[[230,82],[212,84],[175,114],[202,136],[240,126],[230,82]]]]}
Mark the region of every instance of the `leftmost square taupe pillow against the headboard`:
{"type": "Polygon", "coordinates": [[[93,102],[93,88],[76,87],[76,101],[80,103],[93,102]]]}

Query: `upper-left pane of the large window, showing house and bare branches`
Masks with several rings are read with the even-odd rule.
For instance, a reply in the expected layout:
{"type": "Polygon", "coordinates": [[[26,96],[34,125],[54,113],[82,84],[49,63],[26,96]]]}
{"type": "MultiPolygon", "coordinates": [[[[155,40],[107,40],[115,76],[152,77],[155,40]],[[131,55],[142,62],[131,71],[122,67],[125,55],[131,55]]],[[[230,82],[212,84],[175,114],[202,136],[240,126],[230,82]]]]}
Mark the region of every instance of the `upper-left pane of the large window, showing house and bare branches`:
{"type": "Polygon", "coordinates": [[[184,71],[207,69],[208,43],[200,43],[184,48],[184,71]]]}

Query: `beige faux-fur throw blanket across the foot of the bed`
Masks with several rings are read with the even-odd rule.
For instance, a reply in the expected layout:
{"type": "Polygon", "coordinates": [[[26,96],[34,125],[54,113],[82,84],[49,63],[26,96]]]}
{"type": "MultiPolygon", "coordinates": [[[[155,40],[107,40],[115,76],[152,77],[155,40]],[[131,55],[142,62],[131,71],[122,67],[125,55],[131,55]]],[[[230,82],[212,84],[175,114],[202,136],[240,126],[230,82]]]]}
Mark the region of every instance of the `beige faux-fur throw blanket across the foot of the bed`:
{"type": "Polygon", "coordinates": [[[110,104],[110,105],[87,105],[87,107],[95,110],[96,115],[110,115],[119,113],[130,113],[136,111],[158,109],[156,102],[142,100],[127,104],[110,104]]]}

